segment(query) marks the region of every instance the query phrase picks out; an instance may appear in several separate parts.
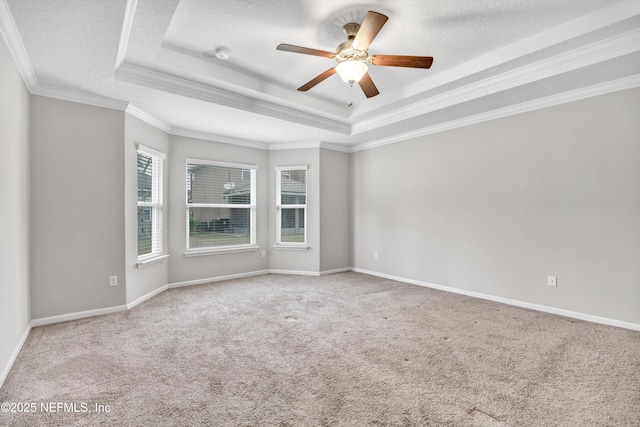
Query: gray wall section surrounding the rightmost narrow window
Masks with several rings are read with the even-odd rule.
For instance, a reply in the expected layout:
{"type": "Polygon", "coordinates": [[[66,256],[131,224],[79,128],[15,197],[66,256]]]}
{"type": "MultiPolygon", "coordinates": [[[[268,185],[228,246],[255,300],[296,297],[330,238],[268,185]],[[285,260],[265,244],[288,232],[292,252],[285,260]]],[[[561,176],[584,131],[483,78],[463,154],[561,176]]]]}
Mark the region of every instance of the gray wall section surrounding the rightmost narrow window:
{"type": "Polygon", "coordinates": [[[320,150],[305,148],[269,152],[269,267],[290,272],[320,272],[320,150]],[[307,165],[306,251],[273,249],[276,244],[276,171],[279,166],[307,165]]]}

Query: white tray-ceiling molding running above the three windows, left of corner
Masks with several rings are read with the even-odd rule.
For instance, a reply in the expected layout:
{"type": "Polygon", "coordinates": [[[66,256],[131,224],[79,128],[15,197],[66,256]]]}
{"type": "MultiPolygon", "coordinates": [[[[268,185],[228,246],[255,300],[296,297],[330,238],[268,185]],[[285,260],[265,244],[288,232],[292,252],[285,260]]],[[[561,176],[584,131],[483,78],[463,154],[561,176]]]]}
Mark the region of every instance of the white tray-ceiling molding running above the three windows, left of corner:
{"type": "Polygon", "coordinates": [[[185,80],[159,71],[132,65],[126,61],[116,69],[115,77],[121,81],[189,98],[200,99],[202,101],[212,102],[218,105],[249,111],[264,116],[275,117],[281,120],[300,123],[306,126],[313,126],[315,128],[325,129],[344,135],[351,133],[351,126],[348,123],[185,80]]]}

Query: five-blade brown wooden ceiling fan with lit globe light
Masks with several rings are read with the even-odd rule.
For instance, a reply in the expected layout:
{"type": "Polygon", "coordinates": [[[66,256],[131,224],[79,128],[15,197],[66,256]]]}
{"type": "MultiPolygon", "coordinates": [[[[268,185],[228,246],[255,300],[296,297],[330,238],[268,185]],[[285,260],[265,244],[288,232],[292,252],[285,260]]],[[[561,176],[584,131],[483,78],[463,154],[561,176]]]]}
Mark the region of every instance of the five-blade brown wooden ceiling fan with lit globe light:
{"type": "Polygon", "coordinates": [[[329,68],[324,73],[311,79],[298,88],[299,91],[307,91],[334,74],[353,86],[358,83],[367,98],[378,95],[378,88],[373,84],[368,73],[367,64],[386,67],[430,68],[433,63],[431,56],[403,56],[403,55],[369,55],[367,49],[378,35],[389,18],[381,13],[369,11],[362,25],[350,22],[342,27],[342,31],[348,40],[341,43],[335,52],[311,49],[308,47],[279,44],[277,49],[286,52],[304,53],[306,55],[333,58],[338,65],[329,68]]]}

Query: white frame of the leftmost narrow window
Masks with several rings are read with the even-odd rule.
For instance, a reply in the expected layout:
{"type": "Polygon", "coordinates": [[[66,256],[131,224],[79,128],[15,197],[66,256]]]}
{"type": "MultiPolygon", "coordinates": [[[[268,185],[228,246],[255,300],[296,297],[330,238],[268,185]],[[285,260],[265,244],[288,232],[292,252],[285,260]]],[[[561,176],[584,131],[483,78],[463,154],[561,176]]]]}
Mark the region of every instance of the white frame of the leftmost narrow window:
{"type": "MultiPolygon", "coordinates": [[[[139,156],[144,155],[151,158],[151,201],[144,202],[136,200],[136,208],[151,208],[151,252],[138,255],[137,266],[143,267],[155,262],[161,261],[168,257],[164,255],[164,161],[166,154],[146,147],[142,144],[136,144],[136,188],[140,191],[140,183],[138,182],[137,162],[139,156]]],[[[138,199],[138,196],[136,196],[138,199]]],[[[136,215],[137,217],[137,215],[136,215]]],[[[138,221],[136,224],[139,227],[138,221]]],[[[140,241],[136,241],[139,249],[140,241]]]]}

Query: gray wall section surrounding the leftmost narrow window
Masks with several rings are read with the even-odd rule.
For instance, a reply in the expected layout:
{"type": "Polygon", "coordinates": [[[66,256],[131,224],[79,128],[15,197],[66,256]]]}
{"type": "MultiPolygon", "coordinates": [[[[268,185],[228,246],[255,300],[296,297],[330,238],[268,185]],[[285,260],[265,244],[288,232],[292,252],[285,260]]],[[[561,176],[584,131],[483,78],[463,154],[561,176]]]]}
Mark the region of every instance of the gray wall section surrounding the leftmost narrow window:
{"type": "Polygon", "coordinates": [[[124,164],[125,164],[125,189],[124,189],[124,223],[126,240],[126,293],[127,303],[132,303],[168,283],[169,262],[161,261],[156,264],[138,268],[138,176],[136,144],[142,144],[167,155],[164,162],[164,253],[168,253],[168,192],[169,183],[169,136],[148,125],[142,120],[129,114],[125,115],[125,139],[124,139],[124,164]]]}

